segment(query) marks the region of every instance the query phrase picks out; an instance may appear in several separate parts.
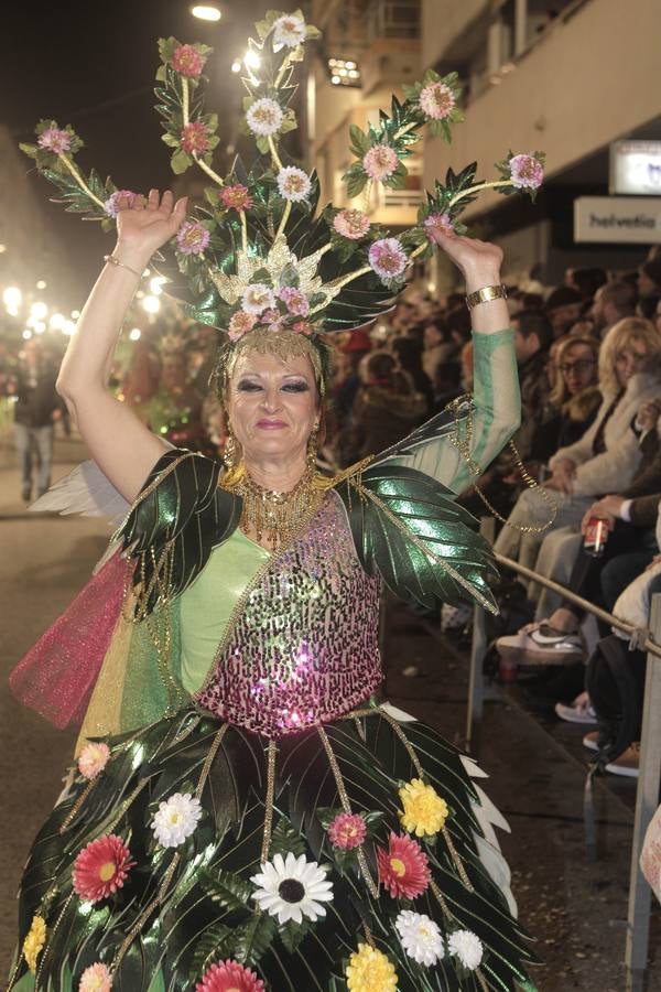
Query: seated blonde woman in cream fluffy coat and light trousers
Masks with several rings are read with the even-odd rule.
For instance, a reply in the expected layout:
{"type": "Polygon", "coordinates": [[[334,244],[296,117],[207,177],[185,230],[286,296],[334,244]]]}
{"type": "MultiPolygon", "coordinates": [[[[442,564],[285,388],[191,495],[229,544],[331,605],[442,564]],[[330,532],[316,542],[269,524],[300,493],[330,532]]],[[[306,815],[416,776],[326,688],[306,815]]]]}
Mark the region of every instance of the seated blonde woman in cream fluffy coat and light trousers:
{"type": "MultiPolygon", "coordinates": [[[[578,525],[595,497],[621,492],[632,481],[641,459],[632,422],[639,408],[661,396],[661,338],[649,321],[630,317],[608,332],[599,355],[599,389],[604,397],[597,417],[578,441],[550,460],[556,511],[552,529],[578,525]]],[[[549,502],[524,490],[496,539],[499,554],[534,568],[542,533],[523,533],[551,516],[549,502]]]]}

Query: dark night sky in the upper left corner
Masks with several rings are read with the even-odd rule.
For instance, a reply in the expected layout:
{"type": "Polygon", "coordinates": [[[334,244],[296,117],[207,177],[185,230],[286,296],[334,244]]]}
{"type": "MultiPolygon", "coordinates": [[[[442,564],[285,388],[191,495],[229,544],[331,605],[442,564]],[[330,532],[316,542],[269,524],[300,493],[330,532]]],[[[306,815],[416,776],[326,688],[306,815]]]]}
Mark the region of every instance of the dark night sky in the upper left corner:
{"type": "MultiPolygon", "coordinates": [[[[236,141],[243,90],[230,65],[245,52],[254,21],[271,4],[231,0],[220,6],[223,19],[210,24],[193,18],[185,0],[6,2],[0,120],[17,144],[34,141],[33,128],[42,117],[56,119],[61,127],[71,123],[85,141],[77,155],[84,172],[96,168],[124,188],[166,187],[173,175],[153,109],[160,36],[173,34],[182,42],[199,41],[215,48],[206,68],[210,78],[206,109],[220,116],[219,150],[236,141]],[[224,111],[229,110],[235,127],[228,131],[224,111]]],[[[221,172],[228,164],[221,155],[216,163],[221,172]]],[[[25,158],[26,172],[30,169],[25,158]]],[[[85,294],[102,265],[101,256],[112,247],[112,235],[48,203],[54,190],[39,175],[32,174],[30,182],[43,203],[44,223],[71,255],[75,290],[85,294]]]]}

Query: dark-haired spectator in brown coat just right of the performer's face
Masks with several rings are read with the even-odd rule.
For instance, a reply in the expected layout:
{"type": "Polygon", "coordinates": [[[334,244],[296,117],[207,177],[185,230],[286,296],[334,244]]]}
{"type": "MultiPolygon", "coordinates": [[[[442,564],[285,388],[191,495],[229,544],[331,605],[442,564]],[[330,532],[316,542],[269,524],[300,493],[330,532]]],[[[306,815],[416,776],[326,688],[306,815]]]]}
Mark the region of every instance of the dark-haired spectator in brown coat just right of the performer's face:
{"type": "Polygon", "coordinates": [[[388,352],[366,355],[359,367],[361,386],[354,400],[345,464],[383,451],[423,422],[426,402],[388,352]]]}

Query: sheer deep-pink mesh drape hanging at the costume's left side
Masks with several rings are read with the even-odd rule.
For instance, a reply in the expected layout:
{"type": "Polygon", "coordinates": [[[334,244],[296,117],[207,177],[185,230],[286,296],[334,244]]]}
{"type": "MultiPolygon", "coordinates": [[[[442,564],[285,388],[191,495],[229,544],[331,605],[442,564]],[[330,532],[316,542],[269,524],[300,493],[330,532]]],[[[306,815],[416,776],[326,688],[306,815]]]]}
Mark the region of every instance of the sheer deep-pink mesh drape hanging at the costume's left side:
{"type": "Polygon", "coordinates": [[[9,677],[15,698],[59,729],[83,722],[121,610],[126,568],[113,554],[9,677]]]}

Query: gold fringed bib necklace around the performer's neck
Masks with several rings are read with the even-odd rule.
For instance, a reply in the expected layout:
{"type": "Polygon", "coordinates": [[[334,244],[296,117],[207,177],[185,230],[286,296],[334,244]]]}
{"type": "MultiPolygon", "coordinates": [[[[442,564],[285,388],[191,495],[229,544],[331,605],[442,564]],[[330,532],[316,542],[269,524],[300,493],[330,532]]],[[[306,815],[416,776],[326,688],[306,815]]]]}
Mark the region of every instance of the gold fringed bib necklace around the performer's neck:
{"type": "Polygon", "coordinates": [[[221,483],[241,497],[239,527],[243,533],[254,535],[258,543],[266,538],[273,551],[280,551],[316,514],[328,489],[327,481],[308,465],[293,489],[280,493],[258,486],[245,466],[240,467],[238,477],[221,483]]]}

